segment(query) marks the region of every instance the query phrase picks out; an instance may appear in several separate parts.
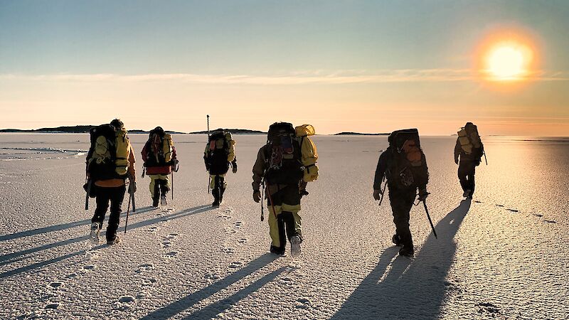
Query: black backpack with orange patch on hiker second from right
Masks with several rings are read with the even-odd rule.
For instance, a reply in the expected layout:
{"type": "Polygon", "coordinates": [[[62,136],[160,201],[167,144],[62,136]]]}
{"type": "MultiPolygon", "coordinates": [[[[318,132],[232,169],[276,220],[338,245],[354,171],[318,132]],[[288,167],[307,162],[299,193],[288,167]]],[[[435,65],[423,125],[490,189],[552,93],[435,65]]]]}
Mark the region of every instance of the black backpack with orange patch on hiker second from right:
{"type": "Polygon", "coordinates": [[[390,134],[388,140],[393,155],[388,181],[398,188],[425,186],[429,182],[429,173],[418,130],[397,130],[390,134]]]}

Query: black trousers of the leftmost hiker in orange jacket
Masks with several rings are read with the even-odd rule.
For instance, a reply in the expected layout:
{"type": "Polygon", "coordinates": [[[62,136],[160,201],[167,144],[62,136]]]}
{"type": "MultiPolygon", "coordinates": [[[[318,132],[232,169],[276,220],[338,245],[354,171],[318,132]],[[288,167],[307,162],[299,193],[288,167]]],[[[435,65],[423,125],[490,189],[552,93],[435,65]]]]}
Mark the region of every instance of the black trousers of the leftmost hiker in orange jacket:
{"type": "Polygon", "coordinates": [[[102,223],[105,220],[105,214],[107,213],[110,202],[111,213],[109,215],[109,225],[107,225],[107,240],[113,240],[115,239],[115,235],[117,235],[120,213],[122,212],[122,201],[126,191],[126,186],[115,188],[97,187],[97,208],[95,209],[95,215],[93,215],[91,223],[99,223],[99,228],[102,228],[102,223]]]}

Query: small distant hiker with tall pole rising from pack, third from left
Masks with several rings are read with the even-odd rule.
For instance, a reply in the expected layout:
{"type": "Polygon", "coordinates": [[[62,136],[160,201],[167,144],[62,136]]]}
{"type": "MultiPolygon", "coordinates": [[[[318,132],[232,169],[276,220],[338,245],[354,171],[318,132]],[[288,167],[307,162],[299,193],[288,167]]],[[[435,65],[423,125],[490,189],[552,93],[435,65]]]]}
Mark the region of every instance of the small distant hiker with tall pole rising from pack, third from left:
{"type": "Polygon", "coordinates": [[[233,174],[237,173],[237,157],[235,156],[235,140],[231,132],[217,129],[208,137],[206,150],[203,151],[203,161],[206,171],[210,174],[209,188],[213,195],[211,206],[217,208],[223,201],[223,193],[227,188],[225,174],[232,167],[233,174]]]}

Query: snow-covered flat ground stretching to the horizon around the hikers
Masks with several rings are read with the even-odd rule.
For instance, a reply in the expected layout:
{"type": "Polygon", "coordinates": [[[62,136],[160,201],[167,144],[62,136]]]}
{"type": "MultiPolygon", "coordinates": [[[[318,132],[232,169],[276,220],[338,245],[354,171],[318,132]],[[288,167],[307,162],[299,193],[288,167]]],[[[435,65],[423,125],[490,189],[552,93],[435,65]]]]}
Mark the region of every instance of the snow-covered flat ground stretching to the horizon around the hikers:
{"type": "MultiPolygon", "coordinates": [[[[146,138],[131,135],[138,159],[146,138]]],[[[88,135],[0,134],[0,319],[569,318],[568,139],[486,137],[489,166],[477,168],[471,202],[455,138],[422,138],[439,238],[413,208],[409,259],[390,242],[388,201],[371,196],[386,137],[316,137],[321,176],[303,199],[302,255],[292,260],[267,253],[251,198],[265,137],[235,138],[239,171],[220,208],[206,192],[206,138],[175,136],[174,201],[151,210],[139,176],[127,235],[91,247],[88,135]]]]}

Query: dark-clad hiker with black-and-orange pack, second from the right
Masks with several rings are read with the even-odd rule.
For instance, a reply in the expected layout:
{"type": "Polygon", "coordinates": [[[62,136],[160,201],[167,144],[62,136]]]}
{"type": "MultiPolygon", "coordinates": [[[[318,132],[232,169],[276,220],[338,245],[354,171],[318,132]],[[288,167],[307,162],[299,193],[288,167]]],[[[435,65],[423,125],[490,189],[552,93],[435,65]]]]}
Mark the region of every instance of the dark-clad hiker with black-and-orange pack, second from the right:
{"type": "Polygon", "coordinates": [[[415,249],[409,230],[409,213],[417,190],[419,201],[425,201],[429,195],[427,161],[421,149],[417,129],[394,131],[389,135],[388,142],[388,148],[379,156],[373,181],[373,198],[380,200],[383,196],[385,188],[382,190],[381,183],[385,178],[395,223],[395,235],[391,240],[400,246],[400,255],[411,257],[415,249]]]}

